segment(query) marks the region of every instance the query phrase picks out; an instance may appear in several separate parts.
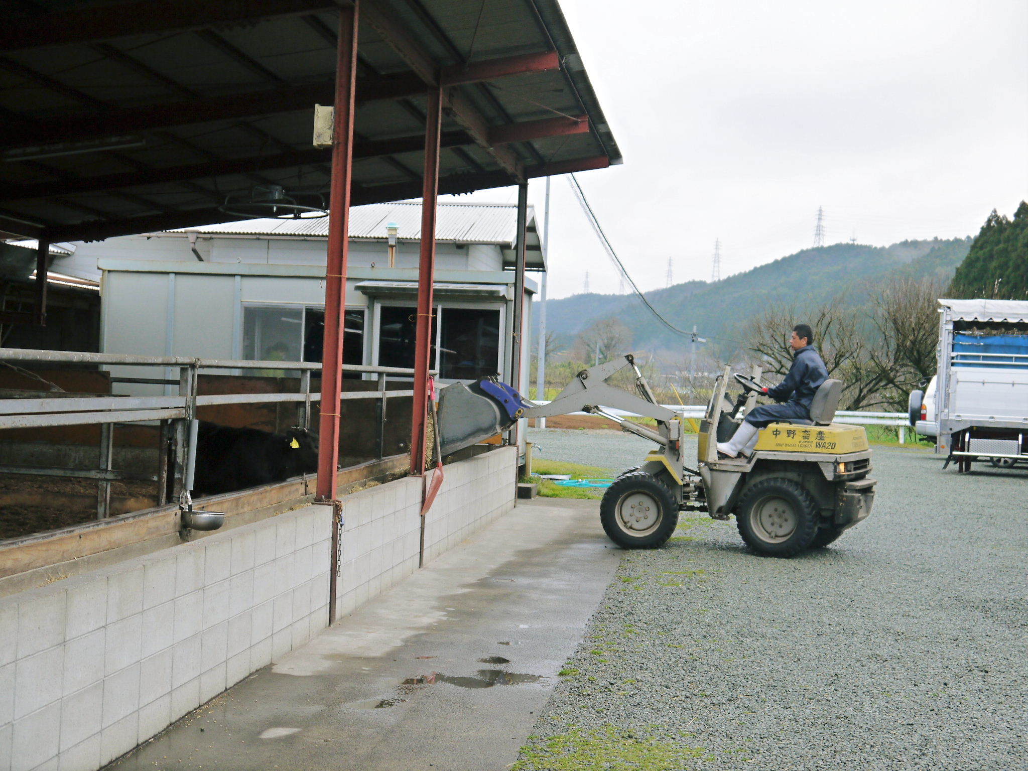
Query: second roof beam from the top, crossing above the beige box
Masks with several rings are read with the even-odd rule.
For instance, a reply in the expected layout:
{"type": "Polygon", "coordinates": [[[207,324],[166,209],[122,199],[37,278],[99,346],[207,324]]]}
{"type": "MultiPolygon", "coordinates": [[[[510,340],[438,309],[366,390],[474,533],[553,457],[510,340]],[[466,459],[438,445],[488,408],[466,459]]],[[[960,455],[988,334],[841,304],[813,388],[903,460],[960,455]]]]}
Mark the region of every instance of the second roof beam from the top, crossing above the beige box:
{"type": "MultiPolygon", "coordinates": [[[[14,63],[11,68],[21,67],[14,63]]],[[[451,68],[443,73],[447,83],[463,84],[525,72],[543,72],[559,65],[556,53],[540,53],[477,62],[468,67],[451,68]]],[[[12,69],[23,77],[37,78],[28,68],[12,69]]],[[[59,81],[44,83],[47,88],[65,89],[65,96],[78,98],[79,91],[64,86],[59,81]]],[[[309,110],[314,105],[330,105],[335,93],[335,80],[327,79],[305,85],[276,85],[271,88],[188,99],[159,105],[141,106],[131,111],[118,112],[103,105],[104,112],[69,115],[48,119],[31,128],[10,126],[0,128],[0,145],[6,147],[37,146],[58,142],[82,142],[109,136],[132,134],[133,132],[174,128],[179,125],[206,123],[214,120],[235,120],[253,118],[279,112],[309,110]]],[[[357,81],[357,103],[366,104],[379,100],[397,100],[418,97],[425,93],[425,83],[413,75],[386,75],[359,78],[357,81]]]]}

